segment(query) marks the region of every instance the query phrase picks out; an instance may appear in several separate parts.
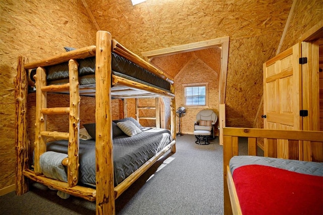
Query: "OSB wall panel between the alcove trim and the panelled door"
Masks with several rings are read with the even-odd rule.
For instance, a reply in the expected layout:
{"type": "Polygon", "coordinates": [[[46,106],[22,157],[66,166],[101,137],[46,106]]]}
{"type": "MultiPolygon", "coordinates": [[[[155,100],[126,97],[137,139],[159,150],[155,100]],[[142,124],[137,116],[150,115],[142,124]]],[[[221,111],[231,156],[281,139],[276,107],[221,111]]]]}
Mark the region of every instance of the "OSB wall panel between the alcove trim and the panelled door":
{"type": "Polygon", "coordinates": [[[263,94],[262,63],[275,56],[279,35],[230,41],[226,94],[227,126],[253,126],[263,94]]]}

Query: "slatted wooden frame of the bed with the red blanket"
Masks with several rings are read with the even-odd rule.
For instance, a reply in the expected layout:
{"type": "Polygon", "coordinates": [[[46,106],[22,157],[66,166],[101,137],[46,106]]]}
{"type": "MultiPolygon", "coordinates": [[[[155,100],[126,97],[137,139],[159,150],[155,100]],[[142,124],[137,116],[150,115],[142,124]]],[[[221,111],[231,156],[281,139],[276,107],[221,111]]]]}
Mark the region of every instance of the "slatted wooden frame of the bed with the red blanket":
{"type": "MultiPolygon", "coordinates": [[[[223,182],[224,182],[224,214],[242,214],[236,188],[229,168],[229,161],[238,155],[238,138],[248,138],[248,155],[257,155],[257,138],[267,138],[266,147],[274,149],[277,140],[299,141],[299,160],[303,160],[303,153],[310,153],[310,143],[323,144],[323,132],[314,131],[286,131],[265,130],[257,128],[223,128],[223,182]]],[[[304,156],[311,157],[311,156],[304,156]]],[[[307,160],[311,161],[311,160],[307,160]]]]}

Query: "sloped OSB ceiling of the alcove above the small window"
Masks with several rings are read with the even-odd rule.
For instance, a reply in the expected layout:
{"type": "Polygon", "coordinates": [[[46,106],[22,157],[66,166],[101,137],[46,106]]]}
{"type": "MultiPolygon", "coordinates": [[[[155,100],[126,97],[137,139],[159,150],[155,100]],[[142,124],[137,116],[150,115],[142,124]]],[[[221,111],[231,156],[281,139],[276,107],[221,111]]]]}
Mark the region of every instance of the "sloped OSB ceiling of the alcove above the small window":
{"type": "Polygon", "coordinates": [[[203,49],[193,52],[155,57],[150,63],[169,74],[172,78],[192,60],[199,59],[214,73],[219,74],[221,66],[221,48],[203,49]]]}

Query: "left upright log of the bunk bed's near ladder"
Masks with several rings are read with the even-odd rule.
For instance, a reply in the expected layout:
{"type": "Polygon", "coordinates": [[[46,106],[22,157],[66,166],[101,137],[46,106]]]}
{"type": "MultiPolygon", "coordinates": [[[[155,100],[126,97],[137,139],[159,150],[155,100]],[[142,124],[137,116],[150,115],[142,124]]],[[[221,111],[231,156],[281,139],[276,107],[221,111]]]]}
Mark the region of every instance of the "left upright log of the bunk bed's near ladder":
{"type": "Polygon", "coordinates": [[[41,88],[46,86],[46,71],[42,67],[36,70],[36,119],[35,119],[35,156],[34,156],[34,171],[35,174],[41,174],[39,164],[40,155],[46,152],[46,137],[41,135],[41,132],[46,131],[47,116],[41,110],[47,107],[47,92],[43,92],[41,88]]]}

